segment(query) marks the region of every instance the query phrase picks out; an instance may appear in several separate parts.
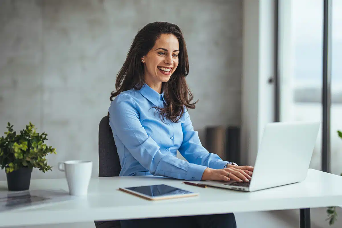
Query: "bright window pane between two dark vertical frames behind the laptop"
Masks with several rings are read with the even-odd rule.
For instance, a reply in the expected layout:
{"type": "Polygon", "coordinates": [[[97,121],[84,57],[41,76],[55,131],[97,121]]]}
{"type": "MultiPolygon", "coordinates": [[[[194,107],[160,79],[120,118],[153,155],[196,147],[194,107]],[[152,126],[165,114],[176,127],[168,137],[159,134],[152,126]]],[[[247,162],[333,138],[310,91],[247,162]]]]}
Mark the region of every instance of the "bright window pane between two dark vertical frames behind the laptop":
{"type": "MultiPolygon", "coordinates": [[[[321,121],[323,1],[279,0],[278,40],[280,121],[321,121]]],[[[310,164],[318,170],[321,129],[310,164]]]]}

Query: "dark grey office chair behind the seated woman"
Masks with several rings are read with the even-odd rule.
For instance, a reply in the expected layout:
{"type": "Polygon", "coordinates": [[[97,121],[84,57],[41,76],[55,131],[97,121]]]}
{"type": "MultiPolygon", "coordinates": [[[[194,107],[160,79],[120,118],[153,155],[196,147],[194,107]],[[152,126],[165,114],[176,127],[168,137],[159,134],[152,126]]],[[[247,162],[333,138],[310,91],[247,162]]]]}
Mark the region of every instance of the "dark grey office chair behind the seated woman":
{"type": "MultiPolygon", "coordinates": [[[[100,121],[98,127],[98,177],[119,176],[121,165],[109,116],[100,121]]],[[[119,221],[95,221],[96,228],[121,228],[119,221]]]]}

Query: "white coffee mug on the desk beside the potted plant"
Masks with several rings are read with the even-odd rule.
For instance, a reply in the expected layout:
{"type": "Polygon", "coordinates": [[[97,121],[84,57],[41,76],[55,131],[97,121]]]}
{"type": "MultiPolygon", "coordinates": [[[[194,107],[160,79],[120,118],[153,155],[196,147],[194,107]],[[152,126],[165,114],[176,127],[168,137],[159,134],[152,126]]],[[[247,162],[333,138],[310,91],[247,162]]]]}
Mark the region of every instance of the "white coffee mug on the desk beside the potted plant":
{"type": "Polygon", "coordinates": [[[92,166],[93,162],[91,161],[73,160],[58,162],[58,170],[65,172],[70,195],[87,195],[92,166]]]}

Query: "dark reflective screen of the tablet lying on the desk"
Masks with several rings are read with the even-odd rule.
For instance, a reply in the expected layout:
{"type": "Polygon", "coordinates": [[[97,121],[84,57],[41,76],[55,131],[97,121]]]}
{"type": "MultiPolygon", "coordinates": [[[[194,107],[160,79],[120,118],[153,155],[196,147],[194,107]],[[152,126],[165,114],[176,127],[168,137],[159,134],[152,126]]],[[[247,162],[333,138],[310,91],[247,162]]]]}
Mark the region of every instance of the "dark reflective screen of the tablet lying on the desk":
{"type": "Polygon", "coordinates": [[[160,196],[172,196],[172,195],[183,195],[193,193],[180,188],[175,188],[169,185],[148,185],[139,187],[126,188],[131,191],[139,192],[150,197],[160,197],[160,196]]]}

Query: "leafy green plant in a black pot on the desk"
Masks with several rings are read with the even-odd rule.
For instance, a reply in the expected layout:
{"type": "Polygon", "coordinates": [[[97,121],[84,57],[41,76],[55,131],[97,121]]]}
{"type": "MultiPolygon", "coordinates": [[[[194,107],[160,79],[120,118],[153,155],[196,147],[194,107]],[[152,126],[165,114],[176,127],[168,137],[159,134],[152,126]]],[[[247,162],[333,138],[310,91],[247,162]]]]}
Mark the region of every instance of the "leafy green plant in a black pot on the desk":
{"type": "Polygon", "coordinates": [[[37,133],[31,122],[18,135],[10,123],[7,123],[6,128],[6,136],[0,138],[0,167],[5,169],[8,190],[28,190],[33,167],[44,173],[52,170],[45,156],[48,153],[56,153],[56,149],[44,144],[48,134],[37,133]]]}

